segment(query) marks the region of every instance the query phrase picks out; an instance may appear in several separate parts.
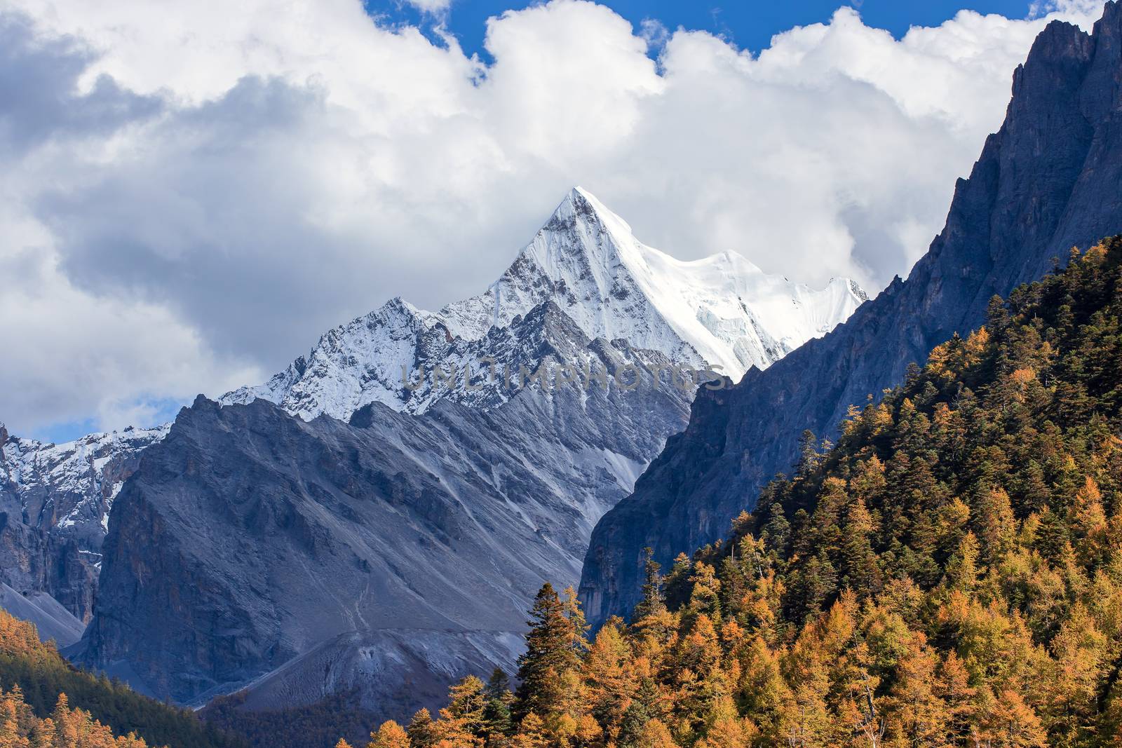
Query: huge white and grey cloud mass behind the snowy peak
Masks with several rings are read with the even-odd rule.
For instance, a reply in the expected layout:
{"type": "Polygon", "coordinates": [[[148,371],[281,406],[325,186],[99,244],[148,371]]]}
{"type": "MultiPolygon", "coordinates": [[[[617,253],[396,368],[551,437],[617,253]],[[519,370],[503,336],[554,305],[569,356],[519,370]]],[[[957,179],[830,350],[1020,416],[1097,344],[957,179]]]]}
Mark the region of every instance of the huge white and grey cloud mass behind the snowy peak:
{"type": "Polygon", "coordinates": [[[553,0],[493,18],[484,65],[357,0],[0,9],[16,433],[154,417],[390,296],[478,293],[574,184],[678,257],[875,290],[940,228],[1034,35],[1096,15],[898,40],[842,9],[753,56],[553,0]]]}

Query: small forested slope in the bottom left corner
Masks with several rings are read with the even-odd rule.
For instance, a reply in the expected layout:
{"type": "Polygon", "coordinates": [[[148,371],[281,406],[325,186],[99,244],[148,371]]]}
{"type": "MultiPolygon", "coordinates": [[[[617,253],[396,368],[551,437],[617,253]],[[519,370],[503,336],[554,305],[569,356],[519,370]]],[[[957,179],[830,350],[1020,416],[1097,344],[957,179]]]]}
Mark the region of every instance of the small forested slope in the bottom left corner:
{"type": "Polygon", "coordinates": [[[247,748],[188,710],[75,669],[0,609],[0,748],[247,748]]]}

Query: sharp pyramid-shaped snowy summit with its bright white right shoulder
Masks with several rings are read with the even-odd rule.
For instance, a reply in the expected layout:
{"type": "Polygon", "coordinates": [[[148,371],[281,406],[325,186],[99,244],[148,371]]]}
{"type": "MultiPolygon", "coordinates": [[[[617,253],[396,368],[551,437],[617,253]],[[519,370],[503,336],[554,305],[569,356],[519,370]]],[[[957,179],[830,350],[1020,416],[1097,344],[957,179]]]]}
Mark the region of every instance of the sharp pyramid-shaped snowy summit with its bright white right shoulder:
{"type": "Polygon", "coordinates": [[[500,318],[524,313],[550,287],[590,338],[623,338],[679,360],[703,360],[734,378],[829,332],[866,299],[849,279],[815,290],[733,251],[678,260],[638,241],[581,187],[558,205],[499,287],[500,318]]]}

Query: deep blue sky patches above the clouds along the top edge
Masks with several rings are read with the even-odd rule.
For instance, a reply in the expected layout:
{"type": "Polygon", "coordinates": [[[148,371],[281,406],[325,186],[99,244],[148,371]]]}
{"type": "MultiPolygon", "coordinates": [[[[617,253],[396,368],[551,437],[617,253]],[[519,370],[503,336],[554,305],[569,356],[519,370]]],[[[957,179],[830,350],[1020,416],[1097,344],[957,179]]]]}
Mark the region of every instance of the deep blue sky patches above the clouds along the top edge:
{"type": "MultiPolygon", "coordinates": [[[[445,27],[460,40],[468,54],[478,53],[489,62],[484,46],[487,19],[499,16],[504,10],[518,10],[536,2],[521,0],[452,0],[451,8],[443,15],[445,27]]],[[[660,21],[671,31],[679,26],[710,31],[723,36],[742,49],[758,52],[769,46],[771,37],[792,26],[806,26],[828,21],[842,6],[857,9],[867,26],[888,29],[900,37],[910,26],[938,26],[953,18],[959,10],[975,10],[982,13],[1000,13],[1008,18],[1024,18],[1029,3],[1024,0],[975,0],[955,2],[927,0],[925,2],[901,2],[900,0],[803,0],[783,2],[775,0],[739,0],[738,2],[690,2],[671,0],[611,0],[601,2],[629,20],[636,28],[645,19],[660,21]]],[[[403,0],[366,0],[367,9],[395,24],[410,24],[431,29],[434,18],[424,15],[413,4],[403,0]]]]}

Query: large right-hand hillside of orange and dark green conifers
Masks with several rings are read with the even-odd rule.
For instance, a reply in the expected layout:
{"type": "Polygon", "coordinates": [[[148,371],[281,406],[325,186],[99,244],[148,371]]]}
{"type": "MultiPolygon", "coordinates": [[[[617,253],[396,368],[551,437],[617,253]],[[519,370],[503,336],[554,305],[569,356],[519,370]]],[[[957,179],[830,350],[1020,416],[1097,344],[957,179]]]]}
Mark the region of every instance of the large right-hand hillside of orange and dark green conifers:
{"type": "Polygon", "coordinates": [[[469,678],[374,746],[1119,745],[1122,237],[987,316],[631,622],[543,589],[513,702],[469,678]]]}

